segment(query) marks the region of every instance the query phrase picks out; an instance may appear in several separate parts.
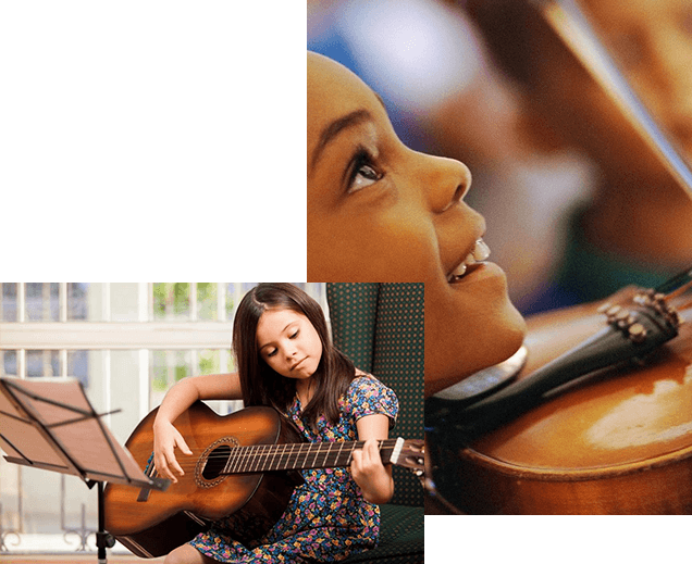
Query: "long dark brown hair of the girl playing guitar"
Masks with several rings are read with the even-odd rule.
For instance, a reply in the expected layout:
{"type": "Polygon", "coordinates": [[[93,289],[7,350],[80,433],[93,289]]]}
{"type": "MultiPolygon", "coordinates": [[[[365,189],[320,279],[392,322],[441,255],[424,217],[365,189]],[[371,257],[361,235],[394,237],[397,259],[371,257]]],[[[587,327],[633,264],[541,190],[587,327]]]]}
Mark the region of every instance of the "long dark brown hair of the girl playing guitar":
{"type": "Polygon", "coordinates": [[[245,406],[271,405],[282,413],[291,408],[296,383],[277,374],[261,358],[257,326],[267,310],[292,310],[305,315],[322,341],[322,360],[312,380],[317,385],[302,417],[313,426],[320,415],[338,423],[338,400],[356,376],[356,368],[330,339],[322,309],[302,290],[287,283],[262,283],[250,290],[238,306],[233,327],[233,349],[240,375],[245,406]]]}

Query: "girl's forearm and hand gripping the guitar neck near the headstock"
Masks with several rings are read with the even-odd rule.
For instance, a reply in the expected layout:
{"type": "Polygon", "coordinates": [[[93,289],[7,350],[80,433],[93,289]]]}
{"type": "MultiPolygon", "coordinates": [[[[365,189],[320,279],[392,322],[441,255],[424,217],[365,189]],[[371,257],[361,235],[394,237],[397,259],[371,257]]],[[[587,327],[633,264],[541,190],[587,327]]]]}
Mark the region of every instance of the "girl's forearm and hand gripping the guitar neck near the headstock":
{"type": "Polygon", "coordinates": [[[354,451],[350,473],[366,501],[382,505],[394,496],[392,465],[382,464],[378,449],[378,441],[390,437],[390,418],[386,415],[367,415],[358,419],[356,427],[359,440],[364,440],[366,446],[362,450],[354,451]]]}

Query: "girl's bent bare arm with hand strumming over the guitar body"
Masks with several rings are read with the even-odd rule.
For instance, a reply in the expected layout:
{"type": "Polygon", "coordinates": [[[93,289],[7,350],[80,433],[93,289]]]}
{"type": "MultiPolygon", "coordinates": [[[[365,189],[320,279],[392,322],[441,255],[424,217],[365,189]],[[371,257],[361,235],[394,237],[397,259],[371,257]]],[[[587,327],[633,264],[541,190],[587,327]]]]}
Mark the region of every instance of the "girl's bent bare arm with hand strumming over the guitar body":
{"type": "Polygon", "coordinates": [[[177,484],[172,471],[185,475],[175,459],[177,447],[185,454],[193,452],[173,422],[197,400],[240,400],[243,390],[237,374],[215,374],[185,378],[169,390],[153,422],[153,460],[159,474],[177,484]]]}

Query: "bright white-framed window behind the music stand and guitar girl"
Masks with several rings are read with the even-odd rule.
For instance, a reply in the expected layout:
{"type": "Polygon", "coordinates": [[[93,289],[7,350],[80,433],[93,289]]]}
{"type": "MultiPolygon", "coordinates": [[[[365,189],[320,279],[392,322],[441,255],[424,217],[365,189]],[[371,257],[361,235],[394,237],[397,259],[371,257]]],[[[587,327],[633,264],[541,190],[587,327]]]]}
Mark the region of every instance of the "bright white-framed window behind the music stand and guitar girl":
{"type": "MultiPolygon", "coordinates": [[[[323,285],[294,283],[326,311],[323,285]]],[[[0,283],[0,375],[76,377],[121,443],[182,378],[235,369],[233,316],[257,283],[0,283]]],[[[224,415],[242,402],[212,402],[224,415]]],[[[96,494],[0,460],[0,550],[95,549],[96,494]],[[85,514],[86,528],[82,525],[85,514]]]]}

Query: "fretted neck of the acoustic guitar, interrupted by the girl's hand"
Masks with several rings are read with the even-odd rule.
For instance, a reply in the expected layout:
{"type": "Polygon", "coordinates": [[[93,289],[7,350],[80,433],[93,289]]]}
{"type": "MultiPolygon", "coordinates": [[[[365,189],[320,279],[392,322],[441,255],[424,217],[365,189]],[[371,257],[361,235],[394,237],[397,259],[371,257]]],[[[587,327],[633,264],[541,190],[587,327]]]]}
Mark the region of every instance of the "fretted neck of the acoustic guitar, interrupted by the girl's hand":
{"type": "MultiPolygon", "coordinates": [[[[363,441],[350,441],[236,447],[221,474],[345,467],[363,446],[363,441]]],[[[379,441],[383,464],[396,464],[403,446],[404,439],[379,441]]]]}

